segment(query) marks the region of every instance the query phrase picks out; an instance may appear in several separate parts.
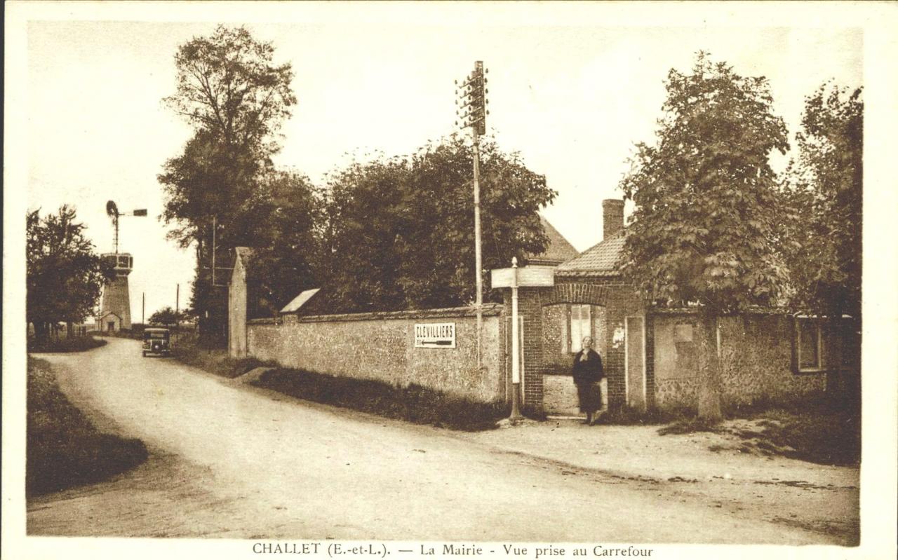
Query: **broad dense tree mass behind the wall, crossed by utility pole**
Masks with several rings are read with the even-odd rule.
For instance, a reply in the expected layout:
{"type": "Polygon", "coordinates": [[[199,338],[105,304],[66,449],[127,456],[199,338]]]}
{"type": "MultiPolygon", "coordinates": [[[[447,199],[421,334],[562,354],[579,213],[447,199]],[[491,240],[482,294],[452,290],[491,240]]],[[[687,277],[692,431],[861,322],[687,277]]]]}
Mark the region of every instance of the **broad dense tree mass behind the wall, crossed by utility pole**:
{"type": "MultiPolygon", "coordinates": [[[[489,270],[545,249],[537,212],[556,193],[517,154],[484,142],[480,155],[483,267],[489,270]]],[[[350,165],[330,180],[322,276],[331,311],[474,299],[472,158],[471,146],[453,136],[409,156],[350,165]]]]}

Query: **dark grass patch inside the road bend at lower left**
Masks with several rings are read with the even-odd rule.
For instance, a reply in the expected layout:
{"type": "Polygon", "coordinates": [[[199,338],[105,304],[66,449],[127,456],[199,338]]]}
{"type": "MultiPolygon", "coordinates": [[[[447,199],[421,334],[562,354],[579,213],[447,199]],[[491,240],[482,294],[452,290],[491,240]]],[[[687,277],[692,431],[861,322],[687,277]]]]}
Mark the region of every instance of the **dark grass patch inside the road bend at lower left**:
{"type": "Polygon", "coordinates": [[[48,362],[28,358],[25,494],[100,482],[147,458],[139,440],[100,433],[59,389],[48,362]]]}

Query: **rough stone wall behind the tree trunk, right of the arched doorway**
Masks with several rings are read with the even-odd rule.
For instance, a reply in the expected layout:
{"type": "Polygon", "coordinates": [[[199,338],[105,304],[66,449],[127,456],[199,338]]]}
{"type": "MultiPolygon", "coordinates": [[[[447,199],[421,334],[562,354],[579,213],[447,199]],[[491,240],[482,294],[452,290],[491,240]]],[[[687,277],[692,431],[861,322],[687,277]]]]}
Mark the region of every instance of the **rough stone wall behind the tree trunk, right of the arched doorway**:
{"type": "MultiPolygon", "coordinates": [[[[694,407],[699,387],[700,323],[692,314],[656,314],[653,373],[656,406],[694,407]]],[[[788,401],[825,389],[825,373],[795,373],[792,368],[793,319],[751,315],[720,320],[720,357],[725,403],[758,399],[788,401]]],[[[824,348],[825,356],[825,348],[824,348]]]]}

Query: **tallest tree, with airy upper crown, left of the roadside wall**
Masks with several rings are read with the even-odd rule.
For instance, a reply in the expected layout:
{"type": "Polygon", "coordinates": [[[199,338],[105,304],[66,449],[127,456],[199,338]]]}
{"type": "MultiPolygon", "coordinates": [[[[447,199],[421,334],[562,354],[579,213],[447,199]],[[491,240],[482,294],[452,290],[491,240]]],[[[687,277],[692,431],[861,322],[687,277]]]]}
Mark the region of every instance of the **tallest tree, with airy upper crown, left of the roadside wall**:
{"type": "Polygon", "coordinates": [[[270,43],[253,39],[245,28],[222,25],[209,37],[184,43],[175,55],[177,89],[164,101],[195,132],[158,179],[170,238],[197,249],[192,303],[203,333],[224,332],[224,294],[209,273],[213,235],[216,248],[223,249],[216,254],[220,262],[234,247],[251,245],[264,227],[247,230],[237,223],[246,223],[240,213],[273,172],[277,131],[296,102],[291,66],[276,65],[273,58],[270,43]]]}

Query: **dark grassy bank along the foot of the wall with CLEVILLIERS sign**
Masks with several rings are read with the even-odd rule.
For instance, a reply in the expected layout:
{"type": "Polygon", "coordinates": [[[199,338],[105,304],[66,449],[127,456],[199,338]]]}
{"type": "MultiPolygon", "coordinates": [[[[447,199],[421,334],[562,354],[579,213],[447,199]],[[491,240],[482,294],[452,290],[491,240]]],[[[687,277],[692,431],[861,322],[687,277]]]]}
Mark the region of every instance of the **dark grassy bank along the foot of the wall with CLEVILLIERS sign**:
{"type": "Polygon", "coordinates": [[[304,370],[276,368],[252,384],[295,398],[466,432],[493,429],[508,414],[502,402],[480,403],[417,384],[396,387],[304,370]]]}

